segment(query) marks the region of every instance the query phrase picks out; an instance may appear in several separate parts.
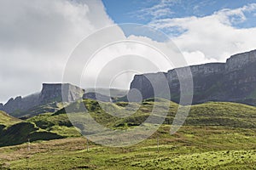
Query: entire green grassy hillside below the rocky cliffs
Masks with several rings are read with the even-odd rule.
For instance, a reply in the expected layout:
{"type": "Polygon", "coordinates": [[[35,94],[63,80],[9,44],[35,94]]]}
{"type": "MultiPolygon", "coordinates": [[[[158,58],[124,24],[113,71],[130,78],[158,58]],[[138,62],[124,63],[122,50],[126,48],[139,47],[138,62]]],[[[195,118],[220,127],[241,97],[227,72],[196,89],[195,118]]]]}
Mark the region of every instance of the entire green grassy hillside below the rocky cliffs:
{"type": "MultiPolygon", "coordinates": [[[[131,131],[149,116],[153,105],[163,102],[145,100],[136,113],[125,118],[108,115],[90,99],[68,107],[80,113],[85,104],[97,122],[113,129],[126,125],[131,131]]],[[[125,113],[127,104],[104,105],[125,113]]],[[[218,102],[193,105],[183,127],[171,135],[168,123],[177,106],[169,105],[165,123],[150,138],[119,148],[89,142],[87,150],[86,139],[80,137],[64,110],[22,122],[12,118],[2,129],[0,169],[256,169],[256,107],[218,102]]],[[[2,113],[0,124],[7,117],[2,113]]]]}

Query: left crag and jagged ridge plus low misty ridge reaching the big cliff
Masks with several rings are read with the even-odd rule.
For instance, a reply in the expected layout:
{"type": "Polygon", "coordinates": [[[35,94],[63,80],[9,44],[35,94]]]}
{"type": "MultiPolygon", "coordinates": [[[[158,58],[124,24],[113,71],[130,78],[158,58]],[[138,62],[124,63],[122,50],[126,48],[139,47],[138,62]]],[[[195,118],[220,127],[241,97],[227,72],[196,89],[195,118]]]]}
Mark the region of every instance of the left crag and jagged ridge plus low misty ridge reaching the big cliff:
{"type": "Polygon", "coordinates": [[[5,105],[0,104],[0,111],[6,111],[11,116],[26,119],[41,113],[53,113],[77,99],[97,99],[110,102],[125,96],[127,92],[128,90],[116,88],[86,88],[84,90],[69,83],[43,83],[41,92],[24,98],[21,96],[15,99],[11,98],[5,105]]]}

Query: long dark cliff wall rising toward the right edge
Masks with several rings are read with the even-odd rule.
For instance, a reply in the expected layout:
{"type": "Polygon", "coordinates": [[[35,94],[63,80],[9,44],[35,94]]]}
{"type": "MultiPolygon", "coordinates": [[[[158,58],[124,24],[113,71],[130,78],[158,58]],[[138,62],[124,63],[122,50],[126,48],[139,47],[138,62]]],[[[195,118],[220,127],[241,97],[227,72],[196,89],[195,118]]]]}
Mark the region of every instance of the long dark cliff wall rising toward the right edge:
{"type": "MultiPolygon", "coordinates": [[[[226,63],[209,63],[176,68],[162,73],[136,75],[131,82],[131,88],[138,89],[143,99],[154,97],[154,89],[147,77],[158,85],[160,74],[168,81],[172,101],[179,102],[180,82],[177,72],[188,78],[186,71],[191,70],[194,82],[193,104],[207,101],[233,101],[247,105],[256,105],[256,50],[235,54],[226,63]]],[[[190,94],[192,92],[189,92],[190,94]]]]}

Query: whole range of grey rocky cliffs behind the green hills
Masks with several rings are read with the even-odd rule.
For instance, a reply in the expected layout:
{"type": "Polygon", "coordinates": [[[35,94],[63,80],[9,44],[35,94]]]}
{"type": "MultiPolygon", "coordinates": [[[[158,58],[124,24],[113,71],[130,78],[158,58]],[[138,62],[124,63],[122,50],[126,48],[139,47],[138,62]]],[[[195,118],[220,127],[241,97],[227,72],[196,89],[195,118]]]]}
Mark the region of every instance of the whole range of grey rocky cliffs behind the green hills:
{"type": "MultiPolygon", "coordinates": [[[[232,101],[247,105],[256,105],[256,50],[236,54],[227,59],[226,63],[209,63],[192,65],[163,72],[169,83],[172,98],[179,103],[180,84],[177,72],[191,70],[194,81],[193,104],[207,101],[232,101]]],[[[143,99],[154,97],[154,89],[147,77],[162,84],[160,73],[136,75],[131,82],[131,88],[137,88],[143,99]]],[[[187,78],[182,74],[182,78],[187,78]]],[[[5,111],[15,117],[30,117],[44,112],[55,112],[61,108],[60,103],[71,103],[77,99],[98,99],[102,101],[127,101],[127,90],[108,88],[83,88],[69,83],[44,83],[41,92],[24,98],[9,99],[0,111],[5,111]],[[61,93],[61,89],[63,90],[61,93]],[[109,93],[110,92],[110,93],[109,93]],[[62,96],[63,94],[63,96],[62,96]],[[62,99],[63,97],[63,99],[62,99]]],[[[191,93],[191,92],[188,92],[191,93]]]]}

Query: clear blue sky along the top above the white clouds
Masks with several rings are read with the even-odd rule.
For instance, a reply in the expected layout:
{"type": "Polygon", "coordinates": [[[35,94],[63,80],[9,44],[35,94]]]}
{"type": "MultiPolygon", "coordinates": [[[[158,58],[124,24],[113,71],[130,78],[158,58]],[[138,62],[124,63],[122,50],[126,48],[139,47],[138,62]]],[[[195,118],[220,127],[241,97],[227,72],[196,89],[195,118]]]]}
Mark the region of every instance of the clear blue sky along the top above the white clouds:
{"type": "MultiPolygon", "coordinates": [[[[148,24],[154,19],[166,19],[166,18],[183,18],[188,16],[207,16],[216,11],[224,8],[241,8],[244,5],[250,3],[256,3],[255,0],[247,1],[234,1],[234,0],[102,0],[107,10],[108,15],[112,20],[117,23],[140,23],[148,24]],[[165,2],[165,5],[158,9],[168,9],[168,12],[163,12],[159,17],[154,16],[150,9],[153,9],[161,2],[165,2]],[[151,12],[151,14],[150,14],[151,12]]],[[[156,9],[156,10],[158,10],[156,9]]],[[[154,10],[155,11],[155,10],[154,10]]],[[[255,11],[254,11],[255,12],[255,11]]],[[[256,26],[256,13],[245,13],[247,20],[243,23],[238,23],[234,26],[239,28],[250,28],[256,26]]]]}

